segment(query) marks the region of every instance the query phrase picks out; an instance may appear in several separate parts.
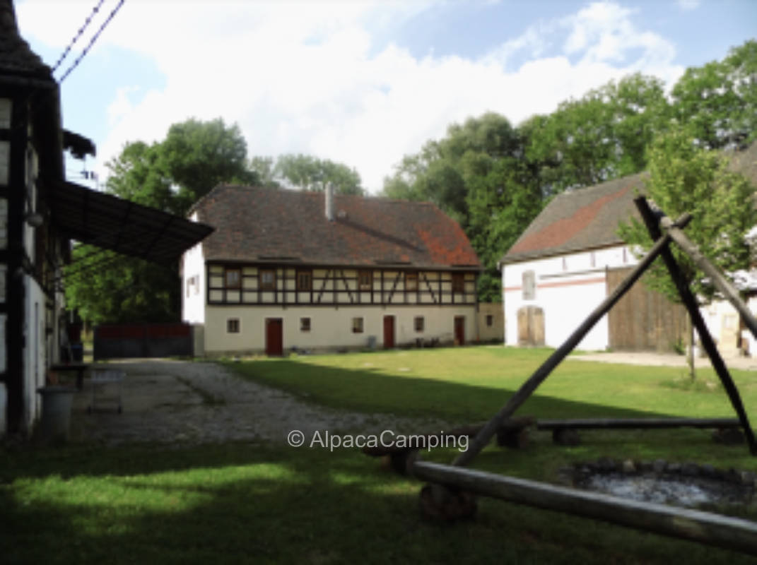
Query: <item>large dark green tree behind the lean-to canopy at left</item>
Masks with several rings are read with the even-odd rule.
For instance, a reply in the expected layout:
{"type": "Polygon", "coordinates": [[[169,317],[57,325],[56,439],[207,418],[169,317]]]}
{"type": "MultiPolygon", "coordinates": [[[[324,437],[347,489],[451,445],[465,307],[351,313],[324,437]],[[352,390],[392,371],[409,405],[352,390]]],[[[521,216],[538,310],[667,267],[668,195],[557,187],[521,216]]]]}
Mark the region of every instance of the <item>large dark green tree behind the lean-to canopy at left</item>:
{"type": "MultiPolygon", "coordinates": [[[[106,191],[126,200],[184,216],[220,182],[257,182],[246,168],[246,145],[237,126],[223,120],[187,120],[164,141],[126,144],[107,163],[106,191]]],[[[179,316],[179,265],[155,265],[91,245],[76,245],[67,267],[66,300],[86,321],[173,321],[179,316]]]]}

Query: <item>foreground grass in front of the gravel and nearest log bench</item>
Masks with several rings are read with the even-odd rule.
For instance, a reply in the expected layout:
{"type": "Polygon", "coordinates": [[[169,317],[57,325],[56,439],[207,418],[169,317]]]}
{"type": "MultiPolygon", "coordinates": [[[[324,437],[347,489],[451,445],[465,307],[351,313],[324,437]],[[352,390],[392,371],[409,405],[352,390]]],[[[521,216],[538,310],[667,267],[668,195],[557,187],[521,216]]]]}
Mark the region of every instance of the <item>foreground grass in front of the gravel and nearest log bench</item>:
{"type": "Polygon", "coordinates": [[[749,562],[484,499],[475,522],[425,523],[419,484],[354,452],[47,452],[45,479],[0,486],[3,563],[749,562]]]}

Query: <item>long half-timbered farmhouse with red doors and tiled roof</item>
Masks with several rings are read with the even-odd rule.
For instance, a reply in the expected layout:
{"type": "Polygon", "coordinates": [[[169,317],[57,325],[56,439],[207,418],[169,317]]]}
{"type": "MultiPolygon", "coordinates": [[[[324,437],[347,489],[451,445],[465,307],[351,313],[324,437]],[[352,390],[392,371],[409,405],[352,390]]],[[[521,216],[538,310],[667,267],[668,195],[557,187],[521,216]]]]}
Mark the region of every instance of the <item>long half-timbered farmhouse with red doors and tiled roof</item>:
{"type": "Polygon", "coordinates": [[[433,204],[220,185],[190,217],[216,228],[182,261],[183,319],[204,326],[198,353],[477,337],[480,263],[433,204]]]}

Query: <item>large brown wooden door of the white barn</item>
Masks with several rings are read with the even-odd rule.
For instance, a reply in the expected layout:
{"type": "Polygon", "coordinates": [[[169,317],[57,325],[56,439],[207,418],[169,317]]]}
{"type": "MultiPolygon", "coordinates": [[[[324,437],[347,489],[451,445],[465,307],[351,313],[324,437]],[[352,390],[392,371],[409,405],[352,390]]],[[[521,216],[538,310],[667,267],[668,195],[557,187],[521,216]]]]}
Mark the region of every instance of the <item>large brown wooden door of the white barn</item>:
{"type": "MultiPolygon", "coordinates": [[[[607,272],[608,295],[631,269],[607,272]]],[[[609,346],[626,351],[672,351],[676,343],[687,343],[686,310],[650,290],[644,279],[634,284],[609,311],[609,346]]]]}

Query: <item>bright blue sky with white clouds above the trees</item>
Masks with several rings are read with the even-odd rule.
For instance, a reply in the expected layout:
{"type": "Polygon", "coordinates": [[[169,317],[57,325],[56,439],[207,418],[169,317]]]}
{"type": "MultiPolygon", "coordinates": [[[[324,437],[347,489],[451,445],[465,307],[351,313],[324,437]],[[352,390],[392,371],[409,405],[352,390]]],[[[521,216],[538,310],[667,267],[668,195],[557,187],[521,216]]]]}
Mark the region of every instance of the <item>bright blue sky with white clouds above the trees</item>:
{"type": "MultiPolygon", "coordinates": [[[[17,1],[20,31],[55,64],[95,3],[17,1]]],[[[116,5],[104,0],[56,77],[116,5]]],[[[375,192],[450,123],[495,111],[517,124],[634,72],[669,88],[753,39],[755,23],[752,0],[126,0],[61,84],[64,127],[98,147],[67,170],[102,180],[127,141],[220,116],[240,126],[250,156],[336,160],[375,192]]]]}

